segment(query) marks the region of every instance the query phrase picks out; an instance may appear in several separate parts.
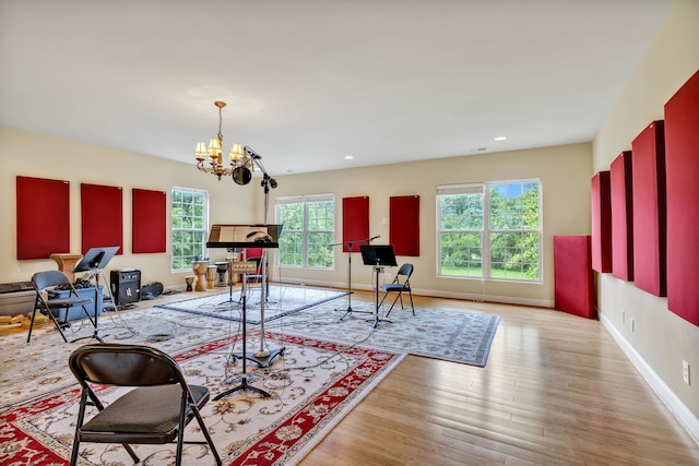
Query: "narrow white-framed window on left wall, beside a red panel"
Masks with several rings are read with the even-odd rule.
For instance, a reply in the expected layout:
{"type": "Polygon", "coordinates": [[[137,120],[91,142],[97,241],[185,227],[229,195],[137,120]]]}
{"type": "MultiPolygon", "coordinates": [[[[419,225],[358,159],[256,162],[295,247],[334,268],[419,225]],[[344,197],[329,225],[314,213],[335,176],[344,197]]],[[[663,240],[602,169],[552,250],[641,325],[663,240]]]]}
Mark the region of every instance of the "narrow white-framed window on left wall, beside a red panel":
{"type": "Polygon", "coordinates": [[[173,188],[173,271],[191,270],[205,256],[209,226],[206,191],[173,188]]]}

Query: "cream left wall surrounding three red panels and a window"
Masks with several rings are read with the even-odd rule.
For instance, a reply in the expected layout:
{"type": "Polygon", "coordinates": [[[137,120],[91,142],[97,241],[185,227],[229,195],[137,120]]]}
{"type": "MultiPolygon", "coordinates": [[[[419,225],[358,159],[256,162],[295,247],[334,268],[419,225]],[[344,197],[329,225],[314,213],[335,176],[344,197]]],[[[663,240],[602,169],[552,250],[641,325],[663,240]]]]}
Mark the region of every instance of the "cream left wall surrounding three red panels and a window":
{"type": "MultiPolygon", "coordinates": [[[[43,134],[0,127],[0,283],[29,280],[35,272],[56,268],[51,259],[16,260],[16,176],[67,180],[70,182],[70,251],[81,253],[80,184],[104,184],[123,189],[123,254],[115,256],[105,273],[121,267],[142,271],[142,283],[162,282],[166,286],[183,286],[188,273],[171,273],[169,235],[166,253],[131,253],[131,190],[158,190],[171,200],[173,187],[209,191],[212,199],[212,223],[254,223],[262,220],[256,188],[235,184],[230,179],[217,181],[198,171],[192,164],[178,164],[155,157],[115,151],[43,134]]],[[[258,186],[258,190],[260,190],[258,186]]],[[[104,215],[114,215],[105,210],[104,215]]],[[[170,218],[167,216],[167,228],[170,218]]],[[[51,226],[46,225],[46,235],[51,226]]],[[[105,244],[109,246],[109,244],[105,244]]],[[[225,258],[225,250],[212,250],[212,260],[225,258]]],[[[191,272],[189,273],[191,275],[191,272]]]]}

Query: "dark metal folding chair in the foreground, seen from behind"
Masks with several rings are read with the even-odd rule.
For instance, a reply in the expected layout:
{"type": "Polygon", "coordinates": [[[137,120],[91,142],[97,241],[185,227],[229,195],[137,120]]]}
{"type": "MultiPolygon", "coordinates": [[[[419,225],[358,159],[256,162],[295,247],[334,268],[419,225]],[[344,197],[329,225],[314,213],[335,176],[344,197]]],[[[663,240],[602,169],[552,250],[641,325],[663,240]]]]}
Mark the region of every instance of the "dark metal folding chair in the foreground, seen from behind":
{"type": "Polygon", "coordinates": [[[149,346],[93,344],[75,349],[69,366],[82,387],[71,466],[78,462],[81,442],[120,443],[133,462],[139,463],[130,443],[163,444],[175,439],[176,465],[181,464],[183,443],[197,443],[208,444],[216,465],[221,466],[221,457],[200,414],[209,402],[209,389],[188,385],[179,365],[167,354],[149,346]],[[91,384],[135,389],[105,407],[91,384]],[[99,411],[84,422],[87,405],[96,406],[99,411]],[[185,442],[185,428],[193,418],[205,442],[185,442]]]}

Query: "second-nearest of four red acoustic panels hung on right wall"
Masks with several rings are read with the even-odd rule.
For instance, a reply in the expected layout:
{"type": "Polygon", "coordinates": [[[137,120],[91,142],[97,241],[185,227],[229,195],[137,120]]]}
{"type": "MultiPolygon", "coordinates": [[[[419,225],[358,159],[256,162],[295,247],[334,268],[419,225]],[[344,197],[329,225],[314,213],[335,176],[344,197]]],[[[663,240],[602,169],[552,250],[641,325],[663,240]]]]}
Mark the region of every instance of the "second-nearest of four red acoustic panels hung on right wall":
{"type": "Polygon", "coordinates": [[[631,143],[633,183],[633,283],[666,296],[665,138],[653,121],[631,143]]]}

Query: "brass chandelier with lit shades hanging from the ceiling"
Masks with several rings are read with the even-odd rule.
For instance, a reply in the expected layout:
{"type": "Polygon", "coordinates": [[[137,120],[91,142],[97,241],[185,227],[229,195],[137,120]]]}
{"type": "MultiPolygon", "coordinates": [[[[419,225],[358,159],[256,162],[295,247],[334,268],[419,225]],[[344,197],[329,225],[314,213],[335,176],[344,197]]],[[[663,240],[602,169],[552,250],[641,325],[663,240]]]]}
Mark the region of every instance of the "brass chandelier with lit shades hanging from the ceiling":
{"type": "Polygon", "coordinates": [[[238,184],[247,184],[252,178],[251,171],[254,171],[254,163],[252,157],[248,157],[248,147],[242,147],[240,143],[233,143],[230,152],[228,152],[229,167],[225,167],[223,163],[223,133],[221,124],[223,122],[222,110],[226,106],[225,101],[216,100],[214,105],[218,108],[218,134],[209,140],[209,146],[203,141],[197,143],[194,155],[197,156],[197,168],[205,174],[213,174],[218,177],[233,177],[238,184]],[[206,165],[209,163],[209,166],[206,165]]]}

